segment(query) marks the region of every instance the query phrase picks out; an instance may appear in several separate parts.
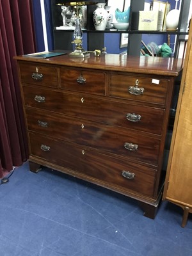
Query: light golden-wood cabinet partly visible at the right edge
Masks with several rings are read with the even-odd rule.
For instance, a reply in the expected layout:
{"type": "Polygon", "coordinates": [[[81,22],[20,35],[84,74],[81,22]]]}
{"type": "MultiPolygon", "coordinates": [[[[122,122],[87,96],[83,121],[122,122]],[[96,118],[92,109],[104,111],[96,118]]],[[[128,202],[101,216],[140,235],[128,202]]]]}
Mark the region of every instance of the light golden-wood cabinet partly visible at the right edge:
{"type": "Polygon", "coordinates": [[[192,26],[180,85],[163,199],[184,209],[182,227],[192,212],[192,26]]]}

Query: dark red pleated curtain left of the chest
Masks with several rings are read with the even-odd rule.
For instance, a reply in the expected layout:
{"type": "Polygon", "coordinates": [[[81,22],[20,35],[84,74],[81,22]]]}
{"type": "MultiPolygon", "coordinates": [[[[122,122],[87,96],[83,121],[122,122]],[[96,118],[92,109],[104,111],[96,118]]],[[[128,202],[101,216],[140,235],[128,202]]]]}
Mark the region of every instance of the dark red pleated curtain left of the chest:
{"type": "Polygon", "coordinates": [[[35,52],[31,1],[0,1],[0,178],[28,159],[17,63],[13,56],[35,52]]]}

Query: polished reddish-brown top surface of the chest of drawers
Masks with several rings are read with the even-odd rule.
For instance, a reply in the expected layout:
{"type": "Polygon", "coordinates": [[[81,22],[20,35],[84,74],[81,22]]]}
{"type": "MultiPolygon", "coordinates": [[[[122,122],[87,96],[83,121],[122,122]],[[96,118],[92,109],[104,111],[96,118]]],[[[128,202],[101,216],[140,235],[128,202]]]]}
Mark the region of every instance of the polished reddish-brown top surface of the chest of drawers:
{"type": "Polygon", "coordinates": [[[49,59],[24,58],[18,56],[17,60],[38,61],[55,65],[67,65],[69,67],[97,68],[104,70],[126,71],[143,74],[154,74],[163,76],[177,76],[182,69],[183,60],[162,57],[135,57],[119,54],[104,54],[95,57],[93,54],[88,58],[72,58],[69,55],[52,57],[49,59]]]}

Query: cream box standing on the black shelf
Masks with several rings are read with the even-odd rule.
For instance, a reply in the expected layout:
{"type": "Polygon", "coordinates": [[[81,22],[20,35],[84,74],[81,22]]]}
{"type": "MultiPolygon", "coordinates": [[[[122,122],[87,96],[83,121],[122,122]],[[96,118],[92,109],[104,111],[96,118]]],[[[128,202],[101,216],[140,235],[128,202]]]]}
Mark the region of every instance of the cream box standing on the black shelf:
{"type": "Polygon", "coordinates": [[[158,31],[163,29],[162,11],[140,11],[138,30],[158,31]]]}

